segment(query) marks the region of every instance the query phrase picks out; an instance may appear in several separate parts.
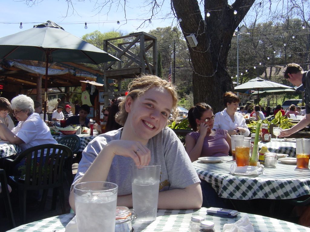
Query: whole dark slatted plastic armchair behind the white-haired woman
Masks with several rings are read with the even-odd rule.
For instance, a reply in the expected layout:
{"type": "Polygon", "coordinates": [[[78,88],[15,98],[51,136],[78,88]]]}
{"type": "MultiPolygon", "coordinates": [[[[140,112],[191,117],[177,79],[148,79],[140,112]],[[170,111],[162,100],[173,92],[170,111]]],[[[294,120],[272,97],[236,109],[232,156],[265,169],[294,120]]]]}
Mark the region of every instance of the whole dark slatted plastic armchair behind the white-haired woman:
{"type": "Polygon", "coordinates": [[[20,217],[24,223],[26,221],[27,190],[43,189],[41,206],[44,208],[47,191],[53,189],[52,209],[56,208],[56,193],[58,191],[62,213],[66,213],[63,187],[65,157],[72,157],[72,151],[67,146],[62,144],[42,144],[26,149],[15,160],[7,159],[6,162],[11,173],[13,167],[24,163],[24,179],[21,179],[20,175],[10,176],[10,179],[18,187],[20,217]]]}

